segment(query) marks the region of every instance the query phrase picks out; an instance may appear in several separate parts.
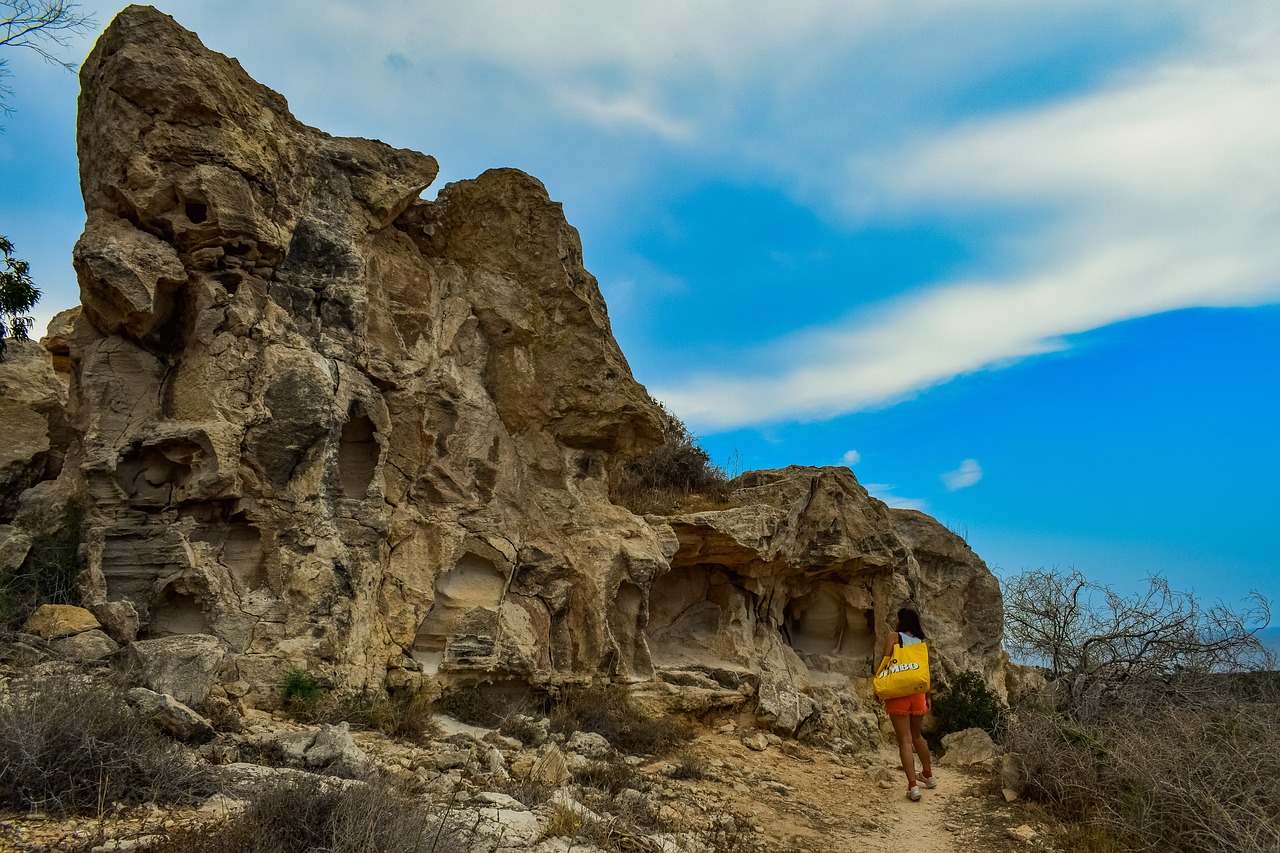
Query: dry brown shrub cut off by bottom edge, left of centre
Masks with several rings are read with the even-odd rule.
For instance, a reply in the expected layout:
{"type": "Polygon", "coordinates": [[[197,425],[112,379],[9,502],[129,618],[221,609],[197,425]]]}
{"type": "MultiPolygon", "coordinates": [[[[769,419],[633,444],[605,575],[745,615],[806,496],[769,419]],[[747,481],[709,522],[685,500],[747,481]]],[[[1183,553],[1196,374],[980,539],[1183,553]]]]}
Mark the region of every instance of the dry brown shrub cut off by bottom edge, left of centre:
{"type": "Polygon", "coordinates": [[[172,835],[155,853],[462,853],[463,839],[392,785],[320,777],[260,789],[229,821],[172,835]],[[447,833],[448,830],[444,830],[447,833]]]}

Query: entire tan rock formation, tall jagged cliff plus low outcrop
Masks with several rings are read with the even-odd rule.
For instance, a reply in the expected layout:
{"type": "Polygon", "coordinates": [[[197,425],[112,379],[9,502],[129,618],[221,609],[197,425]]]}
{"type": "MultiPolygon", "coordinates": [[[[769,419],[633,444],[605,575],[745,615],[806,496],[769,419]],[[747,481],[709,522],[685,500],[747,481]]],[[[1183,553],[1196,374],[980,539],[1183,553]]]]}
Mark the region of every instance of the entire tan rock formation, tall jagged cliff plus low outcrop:
{"type": "Polygon", "coordinates": [[[301,124],[146,6],[84,63],[78,143],[82,311],[51,345],[74,438],[42,475],[84,508],[115,639],[216,638],[212,689],[246,706],[298,667],[616,679],[794,730],[864,710],[911,601],[943,678],[996,683],[992,575],[847,469],[751,473],[717,512],[611,501],[662,414],[534,178],[424,201],[431,158],[301,124]]]}

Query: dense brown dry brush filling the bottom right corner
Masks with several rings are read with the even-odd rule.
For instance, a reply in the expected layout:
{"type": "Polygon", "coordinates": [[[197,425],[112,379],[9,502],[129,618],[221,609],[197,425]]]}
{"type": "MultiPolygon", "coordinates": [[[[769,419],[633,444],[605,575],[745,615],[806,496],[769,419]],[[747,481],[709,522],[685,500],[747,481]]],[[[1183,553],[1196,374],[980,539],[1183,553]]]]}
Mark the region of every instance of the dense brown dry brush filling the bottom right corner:
{"type": "Polygon", "coordinates": [[[1280,849],[1280,702],[1233,676],[1193,680],[1070,719],[1021,710],[1006,745],[1028,797],[1121,849],[1280,849]]]}

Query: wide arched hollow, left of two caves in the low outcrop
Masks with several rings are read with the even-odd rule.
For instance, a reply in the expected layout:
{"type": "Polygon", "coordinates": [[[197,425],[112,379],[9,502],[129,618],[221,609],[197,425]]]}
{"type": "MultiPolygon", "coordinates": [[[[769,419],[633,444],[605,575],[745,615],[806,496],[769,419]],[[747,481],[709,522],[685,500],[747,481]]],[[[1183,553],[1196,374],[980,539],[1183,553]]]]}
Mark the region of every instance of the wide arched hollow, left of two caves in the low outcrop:
{"type": "Polygon", "coordinates": [[[672,569],[649,590],[654,663],[732,663],[749,654],[755,597],[719,566],[672,569]]]}

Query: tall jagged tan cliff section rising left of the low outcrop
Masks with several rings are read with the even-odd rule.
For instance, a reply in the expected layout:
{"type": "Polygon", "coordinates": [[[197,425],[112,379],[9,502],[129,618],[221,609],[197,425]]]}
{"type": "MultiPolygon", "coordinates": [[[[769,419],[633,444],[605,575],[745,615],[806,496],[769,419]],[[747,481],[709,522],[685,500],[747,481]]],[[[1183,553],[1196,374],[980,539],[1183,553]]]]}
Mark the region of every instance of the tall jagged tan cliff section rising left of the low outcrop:
{"type": "Polygon", "coordinates": [[[577,233],[535,179],[419,199],[425,155],[334,138],[132,6],[82,72],[76,475],[90,602],[289,667],[608,672],[664,565],[608,478],[658,441],[577,233]]]}

